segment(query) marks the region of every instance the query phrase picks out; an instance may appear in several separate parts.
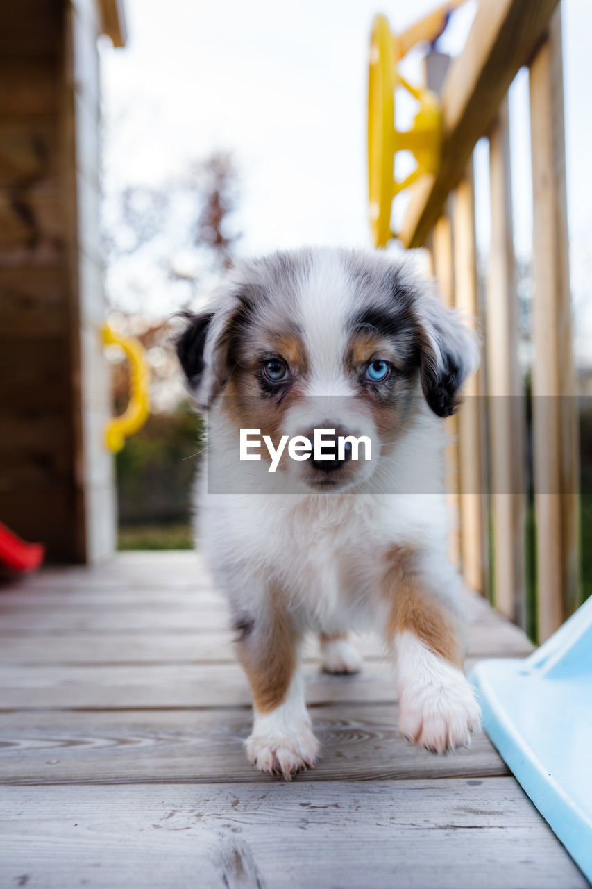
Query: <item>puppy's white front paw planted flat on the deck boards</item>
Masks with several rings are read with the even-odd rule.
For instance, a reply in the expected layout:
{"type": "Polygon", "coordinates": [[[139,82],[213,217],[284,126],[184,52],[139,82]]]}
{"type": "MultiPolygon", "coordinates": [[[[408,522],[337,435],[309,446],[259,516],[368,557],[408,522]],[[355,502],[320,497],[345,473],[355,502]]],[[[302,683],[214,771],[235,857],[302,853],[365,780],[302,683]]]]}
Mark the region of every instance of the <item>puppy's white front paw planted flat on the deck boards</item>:
{"type": "Polygon", "coordinates": [[[244,741],[251,765],[261,772],[292,777],[303,769],[313,768],[319,743],[309,725],[300,725],[291,733],[258,733],[256,730],[244,741]]]}

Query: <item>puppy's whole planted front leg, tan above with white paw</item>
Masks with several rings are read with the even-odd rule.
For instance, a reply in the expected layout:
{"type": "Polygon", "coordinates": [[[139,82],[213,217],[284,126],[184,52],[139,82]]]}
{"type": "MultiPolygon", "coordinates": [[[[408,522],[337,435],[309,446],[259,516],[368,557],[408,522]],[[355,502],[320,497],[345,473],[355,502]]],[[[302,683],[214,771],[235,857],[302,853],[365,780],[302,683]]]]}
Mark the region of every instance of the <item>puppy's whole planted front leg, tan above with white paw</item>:
{"type": "Polygon", "coordinates": [[[236,642],[238,659],[252,689],[252,733],[247,757],[261,772],[286,781],[315,765],[318,741],[310,727],[304,680],[298,662],[299,638],[290,616],[270,612],[252,623],[236,642]]]}

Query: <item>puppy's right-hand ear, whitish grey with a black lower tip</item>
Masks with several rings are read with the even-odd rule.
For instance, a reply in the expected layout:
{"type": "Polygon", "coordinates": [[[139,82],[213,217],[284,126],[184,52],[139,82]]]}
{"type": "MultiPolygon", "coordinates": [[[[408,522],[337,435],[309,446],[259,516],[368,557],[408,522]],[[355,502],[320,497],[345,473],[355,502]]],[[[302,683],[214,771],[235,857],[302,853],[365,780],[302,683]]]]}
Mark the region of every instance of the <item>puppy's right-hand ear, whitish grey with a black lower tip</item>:
{"type": "Polygon", "coordinates": [[[421,295],[417,310],[421,388],[432,411],[449,417],[458,407],[462,384],[479,364],[476,333],[432,293],[421,295]]]}

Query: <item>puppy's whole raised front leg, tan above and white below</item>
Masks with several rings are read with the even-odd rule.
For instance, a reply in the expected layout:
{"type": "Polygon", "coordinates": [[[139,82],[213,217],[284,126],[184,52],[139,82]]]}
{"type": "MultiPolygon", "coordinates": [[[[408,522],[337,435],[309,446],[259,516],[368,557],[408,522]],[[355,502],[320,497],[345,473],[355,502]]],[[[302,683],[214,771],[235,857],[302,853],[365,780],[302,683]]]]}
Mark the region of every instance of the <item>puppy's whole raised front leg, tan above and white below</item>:
{"type": "MultiPolygon", "coordinates": [[[[444,565],[443,581],[447,568],[452,573],[444,565]]],[[[458,615],[436,594],[416,554],[396,555],[385,595],[388,641],[396,651],[399,730],[433,753],[467,747],[481,725],[481,711],[462,672],[458,615]]]]}

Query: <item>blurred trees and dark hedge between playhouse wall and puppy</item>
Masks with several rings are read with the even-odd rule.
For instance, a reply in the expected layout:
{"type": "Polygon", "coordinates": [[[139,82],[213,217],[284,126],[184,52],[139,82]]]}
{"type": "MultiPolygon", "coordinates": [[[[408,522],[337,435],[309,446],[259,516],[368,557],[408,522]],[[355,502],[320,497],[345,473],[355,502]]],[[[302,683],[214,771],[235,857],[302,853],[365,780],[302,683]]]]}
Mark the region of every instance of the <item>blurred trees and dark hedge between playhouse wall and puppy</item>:
{"type": "MultiPolygon", "coordinates": [[[[182,386],[171,316],[198,304],[232,264],[238,197],[232,156],[217,153],[174,180],[126,186],[106,200],[108,320],[140,340],[151,371],[151,416],[116,456],[121,524],[189,522],[203,426],[182,386]]],[[[119,413],[128,400],[128,368],[116,347],[110,356],[119,413]]]]}

